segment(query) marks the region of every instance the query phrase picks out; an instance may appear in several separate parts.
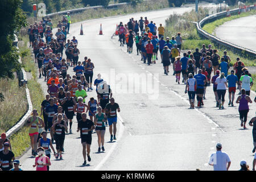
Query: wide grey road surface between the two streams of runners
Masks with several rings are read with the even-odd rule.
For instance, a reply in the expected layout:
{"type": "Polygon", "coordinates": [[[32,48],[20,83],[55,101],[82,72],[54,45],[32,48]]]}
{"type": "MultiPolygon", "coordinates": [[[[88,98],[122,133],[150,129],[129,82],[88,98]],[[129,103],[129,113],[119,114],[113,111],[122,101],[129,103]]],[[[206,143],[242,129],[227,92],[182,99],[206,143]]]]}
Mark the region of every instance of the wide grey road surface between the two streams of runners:
{"type": "MultiPolygon", "coordinates": [[[[128,54],[126,47],[119,47],[117,36],[113,36],[116,24],[131,17],[147,16],[158,25],[164,24],[173,12],[184,13],[191,9],[181,7],[86,20],[82,22],[85,35],[78,35],[81,23],[71,24],[69,38],[74,35],[79,41],[80,59],[90,57],[96,67],[94,79],[101,73],[112,86],[115,102],[121,108],[118,135],[116,142],[109,142],[107,128],[106,151],[98,154],[97,136],[93,134],[92,162],[81,167],[82,147],[79,134],[75,132],[75,121],[72,126],[74,134],[67,135],[65,139],[64,160],[55,160],[52,155],[51,170],[212,170],[207,163],[217,142],[221,142],[224,151],[230,155],[230,169],[237,170],[241,159],[252,163],[251,128],[241,130],[237,105],[228,107],[226,103],[224,110],[218,110],[214,107],[210,86],[205,106],[188,109],[185,86],[176,84],[172,71],[170,76],[165,76],[159,61],[150,66],[142,64],[141,56],[135,55],[135,49],[134,53],[128,54]],[[104,35],[98,35],[101,23],[104,35]],[[141,86],[139,93],[127,84],[133,76],[135,84],[141,86]],[[140,82],[138,78],[143,76],[146,80],[140,82]]],[[[71,69],[69,73],[73,75],[71,69]]],[[[42,78],[39,82],[46,92],[46,83],[42,78]]],[[[91,96],[96,97],[94,91],[89,92],[88,98],[91,96]]],[[[254,116],[255,104],[250,109],[249,118],[254,116]]],[[[23,169],[33,170],[34,158],[30,154],[31,150],[20,159],[23,169]]]]}

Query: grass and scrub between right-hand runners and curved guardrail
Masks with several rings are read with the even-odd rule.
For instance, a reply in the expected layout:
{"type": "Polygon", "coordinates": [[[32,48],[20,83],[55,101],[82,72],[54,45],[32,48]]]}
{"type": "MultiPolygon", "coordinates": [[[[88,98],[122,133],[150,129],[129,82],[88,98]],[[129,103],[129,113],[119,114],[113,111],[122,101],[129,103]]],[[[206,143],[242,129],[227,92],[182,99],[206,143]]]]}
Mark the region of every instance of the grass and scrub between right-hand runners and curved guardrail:
{"type": "Polygon", "coordinates": [[[236,54],[226,49],[223,46],[217,46],[209,39],[200,38],[199,34],[197,34],[196,25],[193,22],[199,22],[199,20],[203,19],[209,13],[209,9],[207,8],[199,8],[199,14],[195,12],[195,10],[189,11],[182,15],[171,14],[166,19],[166,31],[164,32],[164,36],[176,36],[177,32],[181,32],[181,36],[183,39],[183,44],[181,49],[195,51],[196,48],[201,49],[202,44],[208,47],[209,44],[212,44],[213,48],[218,49],[218,54],[220,56],[223,55],[223,51],[227,51],[230,59],[232,60],[230,64],[236,63],[237,57],[240,57],[243,63],[246,66],[256,66],[256,60],[248,58],[245,54],[236,54]]]}

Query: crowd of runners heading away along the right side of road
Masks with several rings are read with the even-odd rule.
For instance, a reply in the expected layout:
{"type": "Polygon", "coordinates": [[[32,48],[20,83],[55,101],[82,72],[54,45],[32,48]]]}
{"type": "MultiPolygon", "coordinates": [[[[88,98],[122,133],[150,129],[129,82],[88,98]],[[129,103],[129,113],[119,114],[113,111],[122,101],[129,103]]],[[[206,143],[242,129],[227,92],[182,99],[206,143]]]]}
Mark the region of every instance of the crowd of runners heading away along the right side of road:
{"type": "MultiPolygon", "coordinates": [[[[144,17],[144,19],[141,17],[139,20],[131,18],[126,24],[120,22],[118,36],[120,46],[126,44],[127,52],[129,53],[133,52],[135,42],[137,55],[141,54],[141,61],[145,64],[146,61],[148,65],[156,64],[158,55],[160,55],[161,59],[158,63],[163,64],[165,75],[170,73],[169,66],[172,64],[173,75],[176,77],[177,84],[180,84],[180,75],[182,74],[182,82],[185,84],[185,93],[188,93],[190,109],[195,109],[195,97],[197,99],[197,107],[204,105],[205,93],[207,87],[211,84],[216,107],[219,109],[224,109],[227,89],[229,93],[228,106],[234,106],[235,93],[238,89],[239,96],[235,102],[239,104],[238,112],[240,114],[241,127],[246,129],[247,114],[249,112],[248,104],[253,102],[250,99],[253,78],[248,68],[240,60],[240,57],[237,57],[236,63],[232,65],[226,51],[219,55],[218,50],[213,49],[210,44],[208,47],[203,44],[201,48],[196,48],[195,52],[184,50],[181,53],[181,33],[177,32],[176,36],[172,36],[171,39],[167,36],[164,40],[164,27],[162,24],[157,27],[156,23],[149,21],[147,17],[144,17]],[[157,32],[158,36],[156,35],[157,32]]],[[[256,97],[254,101],[256,102],[256,97]]],[[[256,150],[256,126],[252,124],[254,121],[255,118],[252,118],[249,122],[249,125],[253,126],[253,153],[256,150]]],[[[253,162],[254,167],[255,159],[253,162]]],[[[247,165],[244,162],[243,164],[247,165]]],[[[246,169],[246,167],[243,169],[246,169]]]]}

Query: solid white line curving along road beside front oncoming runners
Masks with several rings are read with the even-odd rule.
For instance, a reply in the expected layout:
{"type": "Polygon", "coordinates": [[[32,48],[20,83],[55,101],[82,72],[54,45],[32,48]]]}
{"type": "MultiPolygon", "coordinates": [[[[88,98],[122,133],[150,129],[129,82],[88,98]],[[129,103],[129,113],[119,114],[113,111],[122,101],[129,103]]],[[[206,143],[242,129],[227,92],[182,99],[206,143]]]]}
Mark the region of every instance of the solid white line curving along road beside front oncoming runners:
{"type": "MultiPolygon", "coordinates": [[[[117,115],[117,118],[118,118],[118,121],[120,121],[120,122],[119,122],[120,128],[119,128],[119,132],[118,132],[118,135],[117,135],[118,140],[120,140],[121,137],[122,137],[122,135],[123,135],[123,131],[124,131],[125,127],[123,126],[123,119],[122,119],[122,117],[121,117],[120,114],[117,115]]],[[[118,144],[118,142],[114,142],[114,143],[113,143],[113,146],[110,148],[108,154],[107,154],[107,155],[105,156],[105,158],[102,159],[101,162],[93,169],[93,171],[98,171],[98,170],[104,165],[104,163],[106,162],[106,160],[109,159],[109,156],[110,156],[110,155],[113,153],[113,151],[115,150],[115,147],[117,147],[117,144],[118,144]]]]}

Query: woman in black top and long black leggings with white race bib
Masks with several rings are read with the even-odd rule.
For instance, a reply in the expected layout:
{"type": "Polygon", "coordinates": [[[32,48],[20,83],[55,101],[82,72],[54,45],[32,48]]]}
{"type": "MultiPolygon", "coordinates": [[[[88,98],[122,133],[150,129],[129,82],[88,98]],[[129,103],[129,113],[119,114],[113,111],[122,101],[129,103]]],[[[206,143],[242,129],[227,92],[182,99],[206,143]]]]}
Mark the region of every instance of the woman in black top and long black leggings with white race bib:
{"type": "Polygon", "coordinates": [[[56,141],[56,150],[57,154],[55,155],[56,159],[60,160],[62,158],[62,152],[63,152],[63,144],[65,140],[65,131],[68,130],[67,123],[64,121],[63,114],[58,114],[57,115],[57,121],[55,121],[52,125],[53,133],[54,133],[54,139],[56,141]]]}

